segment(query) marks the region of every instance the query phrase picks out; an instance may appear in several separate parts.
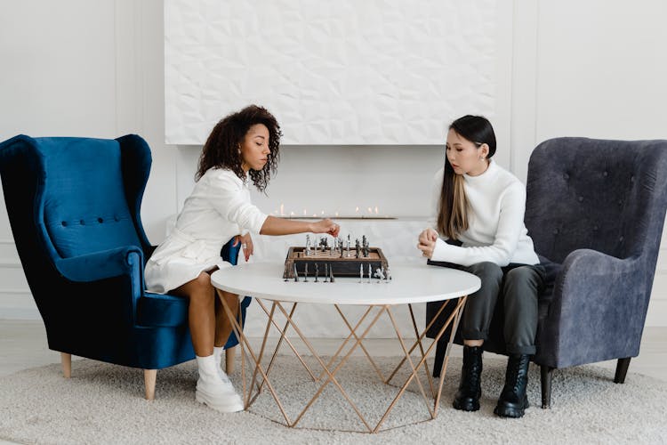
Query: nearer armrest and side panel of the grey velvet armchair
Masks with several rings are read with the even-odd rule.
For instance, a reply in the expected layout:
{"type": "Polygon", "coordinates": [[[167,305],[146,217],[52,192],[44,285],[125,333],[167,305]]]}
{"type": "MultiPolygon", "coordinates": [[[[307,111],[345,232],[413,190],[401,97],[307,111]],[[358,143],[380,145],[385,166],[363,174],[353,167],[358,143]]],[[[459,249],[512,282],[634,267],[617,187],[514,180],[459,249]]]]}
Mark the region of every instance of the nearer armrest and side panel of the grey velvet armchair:
{"type": "Polygon", "coordinates": [[[553,353],[563,368],[639,353],[646,318],[640,265],[591,249],[567,255],[542,322],[540,355],[553,353]]]}

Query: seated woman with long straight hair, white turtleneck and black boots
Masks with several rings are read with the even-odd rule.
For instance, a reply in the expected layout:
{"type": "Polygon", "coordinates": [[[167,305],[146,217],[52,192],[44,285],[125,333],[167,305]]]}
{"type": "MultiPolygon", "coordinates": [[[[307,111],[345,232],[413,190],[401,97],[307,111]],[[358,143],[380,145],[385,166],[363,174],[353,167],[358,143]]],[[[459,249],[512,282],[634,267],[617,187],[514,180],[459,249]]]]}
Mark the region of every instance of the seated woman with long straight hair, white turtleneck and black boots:
{"type": "Polygon", "coordinates": [[[485,117],[464,116],[450,126],[445,166],[436,174],[436,229],[419,235],[430,263],[470,271],[482,286],[463,310],[463,366],[454,408],[479,409],[482,351],[496,303],[504,309],[509,354],[505,384],[494,413],[522,417],[535,353],[537,295],[544,269],[524,224],[526,188],[492,159],[495,134],[485,117]]]}

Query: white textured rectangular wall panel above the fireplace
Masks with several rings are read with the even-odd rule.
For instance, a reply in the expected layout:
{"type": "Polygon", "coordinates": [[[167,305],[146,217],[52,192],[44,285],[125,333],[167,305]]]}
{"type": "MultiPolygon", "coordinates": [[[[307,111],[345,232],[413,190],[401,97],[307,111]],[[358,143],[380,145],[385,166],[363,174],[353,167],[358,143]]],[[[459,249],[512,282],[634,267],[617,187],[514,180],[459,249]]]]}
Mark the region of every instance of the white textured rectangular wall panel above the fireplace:
{"type": "Polygon", "coordinates": [[[287,144],[440,144],[493,117],[495,0],[165,0],[165,140],[249,103],[287,144]]]}

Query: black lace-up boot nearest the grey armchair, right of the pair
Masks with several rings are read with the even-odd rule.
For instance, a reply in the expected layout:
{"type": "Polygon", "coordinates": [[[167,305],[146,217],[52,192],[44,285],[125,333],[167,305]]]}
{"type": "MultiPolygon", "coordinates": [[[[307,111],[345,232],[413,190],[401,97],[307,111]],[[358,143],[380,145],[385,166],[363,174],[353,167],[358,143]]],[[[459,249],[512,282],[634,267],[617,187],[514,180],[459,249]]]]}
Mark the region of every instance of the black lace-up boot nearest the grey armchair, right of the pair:
{"type": "Polygon", "coordinates": [[[510,355],[505,372],[505,386],[494,413],[500,417],[523,417],[524,410],[530,406],[526,395],[528,384],[528,364],[530,357],[526,354],[510,355]]]}

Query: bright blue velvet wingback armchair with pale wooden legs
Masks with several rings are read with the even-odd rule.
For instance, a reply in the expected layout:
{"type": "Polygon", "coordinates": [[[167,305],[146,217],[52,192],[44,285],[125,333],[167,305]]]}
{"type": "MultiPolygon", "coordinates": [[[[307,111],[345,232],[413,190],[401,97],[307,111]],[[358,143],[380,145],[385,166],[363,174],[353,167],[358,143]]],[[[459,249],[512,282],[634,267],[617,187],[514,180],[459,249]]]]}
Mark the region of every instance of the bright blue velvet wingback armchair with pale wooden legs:
{"type": "MultiPolygon", "coordinates": [[[[195,358],[187,299],[144,290],[144,263],[155,249],[140,214],[150,164],[148,144],[134,134],[19,135],[0,144],[14,241],[65,376],[71,354],[142,368],[148,399],[157,369],[195,358]]],[[[223,251],[236,263],[238,247],[223,251]]],[[[235,344],[232,334],[227,346],[235,344]]]]}

